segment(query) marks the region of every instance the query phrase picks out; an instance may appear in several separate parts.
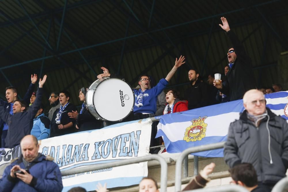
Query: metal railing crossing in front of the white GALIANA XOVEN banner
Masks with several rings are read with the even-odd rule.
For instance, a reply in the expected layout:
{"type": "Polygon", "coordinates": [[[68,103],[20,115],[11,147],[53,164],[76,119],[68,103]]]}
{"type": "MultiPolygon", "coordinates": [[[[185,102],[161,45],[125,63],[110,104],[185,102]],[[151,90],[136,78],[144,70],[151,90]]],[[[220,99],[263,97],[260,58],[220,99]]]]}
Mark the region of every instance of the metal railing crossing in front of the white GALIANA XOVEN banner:
{"type": "Polygon", "coordinates": [[[72,175],[72,174],[83,173],[83,172],[94,171],[94,170],[105,169],[105,168],[111,168],[111,167],[118,167],[118,166],[140,163],[140,162],[151,161],[151,160],[157,160],[160,163],[160,166],[161,166],[161,182],[160,182],[161,188],[160,188],[160,192],[166,192],[168,166],[167,166],[165,159],[159,155],[148,155],[148,156],[143,156],[143,157],[135,157],[135,158],[131,158],[131,159],[123,159],[120,161],[114,161],[114,162],[110,162],[110,163],[103,163],[103,164],[97,164],[97,165],[86,166],[86,167],[81,167],[81,168],[74,168],[74,169],[70,169],[70,170],[61,171],[61,174],[62,174],[62,176],[66,176],[66,175],[72,175]]]}

